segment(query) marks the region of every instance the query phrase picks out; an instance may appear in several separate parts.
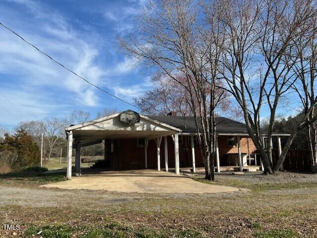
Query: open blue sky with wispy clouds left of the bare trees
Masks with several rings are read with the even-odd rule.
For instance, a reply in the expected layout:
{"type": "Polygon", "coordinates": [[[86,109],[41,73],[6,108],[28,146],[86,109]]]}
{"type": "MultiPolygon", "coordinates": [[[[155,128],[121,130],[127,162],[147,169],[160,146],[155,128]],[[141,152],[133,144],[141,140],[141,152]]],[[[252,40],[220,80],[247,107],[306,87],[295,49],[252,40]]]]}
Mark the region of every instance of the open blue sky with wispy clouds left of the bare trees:
{"type": "MultiPolygon", "coordinates": [[[[133,30],[142,0],[0,0],[0,21],[105,90],[132,102],[151,88],[149,75],[122,54],[116,36],[133,30]]],[[[0,126],[72,110],[131,108],[75,77],[0,27],[0,126]],[[3,109],[4,108],[4,109],[3,109]],[[8,112],[9,113],[8,113],[8,112]],[[12,115],[11,115],[12,114],[12,115]]]]}

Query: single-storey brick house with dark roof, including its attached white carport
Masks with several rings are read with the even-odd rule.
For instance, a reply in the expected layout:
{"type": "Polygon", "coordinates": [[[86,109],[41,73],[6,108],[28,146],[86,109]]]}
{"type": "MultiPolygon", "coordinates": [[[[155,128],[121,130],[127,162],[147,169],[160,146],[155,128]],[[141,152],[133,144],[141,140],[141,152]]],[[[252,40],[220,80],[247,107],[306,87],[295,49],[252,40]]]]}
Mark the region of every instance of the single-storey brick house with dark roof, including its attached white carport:
{"type": "MultiPolygon", "coordinates": [[[[113,170],[172,170],[204,167],[194,117],[173,113],[166,116],[141,115],[127,110],[65,129],[68,139],[67,179],[71,179],[72,149],[75,149],[76,174],[80,174],[80,150],[105,140],[105,165],[113,170]]],[[[261,158],[249,138],[245,124],[217,118],[215,170],[225,168],[261,169],[261,158]]],[[[274,134],[278,147],[280,137],[274,134]]],[[[264,138],[265,140],[265,138],[264,138]]]]}

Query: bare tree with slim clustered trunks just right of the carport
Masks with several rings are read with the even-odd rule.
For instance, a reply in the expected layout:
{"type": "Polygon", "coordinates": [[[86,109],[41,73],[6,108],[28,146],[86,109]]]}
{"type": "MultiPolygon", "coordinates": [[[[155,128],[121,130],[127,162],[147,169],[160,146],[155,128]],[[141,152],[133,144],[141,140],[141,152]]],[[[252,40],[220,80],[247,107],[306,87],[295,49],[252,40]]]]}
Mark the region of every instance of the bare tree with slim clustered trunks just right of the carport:
{"type": "Polygon", "coordinates": [[[214,180],[215,110],[223,96],[215,88],[223,38],[213,28],[204,28],[203,21],[216,21],[212,17],[195,0],[150,1],[135,34],[118,40],[125,52],[156,67],[188,93],[206,179],[214,180]]]}

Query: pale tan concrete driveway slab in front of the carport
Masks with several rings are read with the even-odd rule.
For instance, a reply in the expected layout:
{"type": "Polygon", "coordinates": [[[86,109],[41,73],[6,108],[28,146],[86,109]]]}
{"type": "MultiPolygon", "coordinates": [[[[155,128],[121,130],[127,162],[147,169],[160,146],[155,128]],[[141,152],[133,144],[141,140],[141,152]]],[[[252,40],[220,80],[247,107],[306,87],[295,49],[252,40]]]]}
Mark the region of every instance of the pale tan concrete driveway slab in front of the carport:
{"type": "Polygon", "coordinates": [[[214,193],[239,190],[233,187],[204,184],[182,175],[156,170],[105,171],[72,177],[70,181],[41,187],[140,193],[214,193]]]}

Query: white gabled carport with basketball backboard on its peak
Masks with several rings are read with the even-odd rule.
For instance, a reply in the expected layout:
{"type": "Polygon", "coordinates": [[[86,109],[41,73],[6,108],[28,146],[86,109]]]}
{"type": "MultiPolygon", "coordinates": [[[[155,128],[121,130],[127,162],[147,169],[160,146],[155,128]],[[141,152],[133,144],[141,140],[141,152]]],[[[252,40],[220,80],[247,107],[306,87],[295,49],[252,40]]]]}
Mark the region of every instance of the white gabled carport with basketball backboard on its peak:
{"type": "MultiPolygon", "coordinates": [[[[145,115],[128,110],[110,116],[65,129],[68,141],[67,149],[67,179],[71,179],[72,149],[75,149],[76,175],[80,175],[80,151],[84,146],[101,143],[105,139],[143,139],[144,140],[144,168],[148,168],[148,143],[155,140],[157,144],[157,169],[160,171],[160,144],[164,138],[165,170],[168,171],[167,136],[174,142],[175,173],[179,174],[179,128],[151,119],[145,115]]],[[[128,148],[124,148],[128,149],[128,148]]]]}

